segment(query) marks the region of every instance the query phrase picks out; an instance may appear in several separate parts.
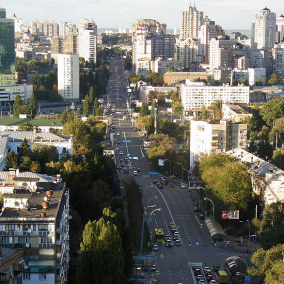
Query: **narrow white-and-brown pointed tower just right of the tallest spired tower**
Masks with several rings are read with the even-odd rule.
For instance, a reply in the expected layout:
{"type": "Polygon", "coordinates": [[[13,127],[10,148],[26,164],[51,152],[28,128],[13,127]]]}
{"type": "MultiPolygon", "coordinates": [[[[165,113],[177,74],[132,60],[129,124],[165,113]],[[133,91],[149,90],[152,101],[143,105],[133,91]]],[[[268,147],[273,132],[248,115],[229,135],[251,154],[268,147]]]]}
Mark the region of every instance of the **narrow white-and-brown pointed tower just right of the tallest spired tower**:
{"type": "Polygon", "coordinates": [[[204,24],[198,32],[198,54],[202,56],[202,62],[209,62],[210,41],[217,37],[215,21],[210,21],[205,17],[204,24]]]}

